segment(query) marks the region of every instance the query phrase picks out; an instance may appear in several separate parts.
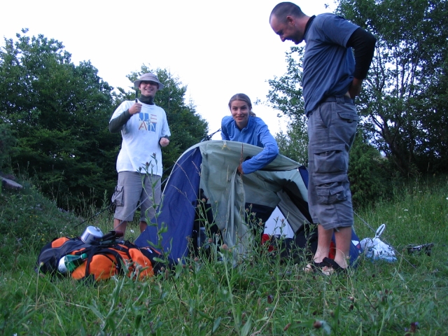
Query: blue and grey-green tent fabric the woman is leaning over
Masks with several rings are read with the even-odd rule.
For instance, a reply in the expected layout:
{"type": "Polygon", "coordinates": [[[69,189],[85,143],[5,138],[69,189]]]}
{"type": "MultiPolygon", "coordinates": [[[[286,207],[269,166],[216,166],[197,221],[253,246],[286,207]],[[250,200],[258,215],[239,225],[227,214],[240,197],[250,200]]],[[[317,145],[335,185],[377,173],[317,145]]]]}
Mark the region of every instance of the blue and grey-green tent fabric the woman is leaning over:
{"type": "Polygon", "coordinates": [[[214,223],[225,244],[233,247],[235,260],[244,258],[253,244],[248,213],[257,212],[255,217],[266,221],[279,207],[294,232],[311,223],[305,167],[278,155],[262,170],[237,174],[240,162],[261,151],[257,146],[225,140],[204,141],[190,147],[174,165],[158,215],[135,244],[148,246],[151,241],[169,251],[174,260],[186,257],[200,197],[207,197],[214,223]],[[158,235],[162,227],[166,232],[161,230],[163,233],[158,235]]]}

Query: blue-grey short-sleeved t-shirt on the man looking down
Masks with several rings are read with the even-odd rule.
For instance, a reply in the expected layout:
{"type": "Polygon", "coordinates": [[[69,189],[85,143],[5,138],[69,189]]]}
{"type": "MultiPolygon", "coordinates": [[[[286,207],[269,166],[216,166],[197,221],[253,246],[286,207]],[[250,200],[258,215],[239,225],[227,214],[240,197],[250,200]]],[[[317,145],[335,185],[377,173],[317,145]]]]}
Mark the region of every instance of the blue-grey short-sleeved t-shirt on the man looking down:
{"type": "Polygon", "coordinates": [[[307,116],[325,97],[342,96],[349,90],[355,59],[345,45],[358,28],[330,13],[317,15],[308,27],[302,74],[307,116]]]}

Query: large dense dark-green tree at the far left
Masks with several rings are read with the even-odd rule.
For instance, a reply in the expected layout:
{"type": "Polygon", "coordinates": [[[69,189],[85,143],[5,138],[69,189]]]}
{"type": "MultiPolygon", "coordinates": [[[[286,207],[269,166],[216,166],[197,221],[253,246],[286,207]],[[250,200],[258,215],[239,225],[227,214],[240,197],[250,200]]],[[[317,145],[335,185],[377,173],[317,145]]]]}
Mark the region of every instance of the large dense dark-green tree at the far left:
{"type": "Polygon", "coordinates": [[[18,139],[12,166],[66,209],[99,200],[115,183],[113,88],[97,72],[90,62],[74,65],[61,42],[26,29],[0,49],[0,120],[18,139]]]}

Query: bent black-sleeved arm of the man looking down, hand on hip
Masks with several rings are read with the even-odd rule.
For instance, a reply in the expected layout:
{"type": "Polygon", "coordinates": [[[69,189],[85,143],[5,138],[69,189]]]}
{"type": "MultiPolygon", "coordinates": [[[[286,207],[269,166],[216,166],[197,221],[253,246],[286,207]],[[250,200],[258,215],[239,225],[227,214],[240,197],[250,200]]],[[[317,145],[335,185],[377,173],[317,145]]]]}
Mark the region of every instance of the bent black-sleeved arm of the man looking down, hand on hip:
{"type": "Polygon", "coordinates": [[[362,28],[353,31],[353,34],[351,34],[349,41],[347,42],[346,47],[353,48],[355,53],[354,78],[349,88],[350,97],[352,99],[358,96],[361,92],[363,80],[367,76],[370,63],[372,63],[375,43],[377,43],[377,38],[362,28]]]}

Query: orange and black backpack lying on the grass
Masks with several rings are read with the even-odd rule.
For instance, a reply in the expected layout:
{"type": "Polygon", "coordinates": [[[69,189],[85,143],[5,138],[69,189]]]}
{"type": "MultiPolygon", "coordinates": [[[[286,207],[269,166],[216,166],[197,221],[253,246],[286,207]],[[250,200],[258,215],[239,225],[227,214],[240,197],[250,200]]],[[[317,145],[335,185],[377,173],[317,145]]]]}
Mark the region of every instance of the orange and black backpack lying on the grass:
{"type": "Polygon", "coordinates": [[[114,241],[106,246],[90,245],[79,238],[61,237],[43,246],[36,271],[62,276],[58,272],[59,260],[65,255],[83,253],[87,258],[71,272],[73,279],[99,281],[126,274],[141,280],[173,265],[172,261],[162,262],[161,253],[150,246],[138,247],[130,241],[114,241]]]}

